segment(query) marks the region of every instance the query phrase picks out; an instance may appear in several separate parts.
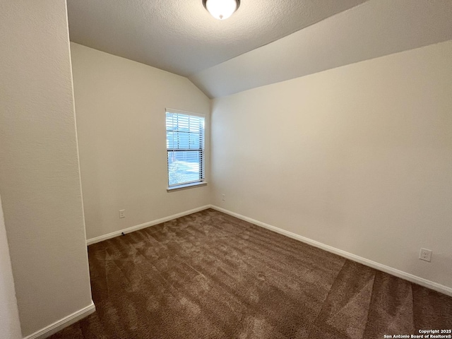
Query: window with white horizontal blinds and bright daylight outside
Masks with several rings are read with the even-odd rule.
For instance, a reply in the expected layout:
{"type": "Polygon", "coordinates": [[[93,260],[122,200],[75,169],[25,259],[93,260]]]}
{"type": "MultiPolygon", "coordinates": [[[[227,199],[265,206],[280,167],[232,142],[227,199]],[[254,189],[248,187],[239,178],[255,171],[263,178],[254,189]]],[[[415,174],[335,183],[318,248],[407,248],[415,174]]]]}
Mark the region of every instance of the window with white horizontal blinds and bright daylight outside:
{"type": "Polygon", "coordinates": [[[167,109],[168,189],[204,182],[204,119],[167,109]]]}

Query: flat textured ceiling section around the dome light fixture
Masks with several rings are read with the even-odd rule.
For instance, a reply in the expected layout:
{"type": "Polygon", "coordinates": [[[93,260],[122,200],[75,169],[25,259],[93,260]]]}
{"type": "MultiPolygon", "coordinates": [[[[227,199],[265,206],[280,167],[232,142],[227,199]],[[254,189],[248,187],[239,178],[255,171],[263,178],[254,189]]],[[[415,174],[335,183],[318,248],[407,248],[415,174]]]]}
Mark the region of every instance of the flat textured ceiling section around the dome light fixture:
{"type": "Polygon", "coordinates": [[[201,0],[67,0],[71,41],[190,76],[365,0],[242,0],[216,20],[201,0]]]}

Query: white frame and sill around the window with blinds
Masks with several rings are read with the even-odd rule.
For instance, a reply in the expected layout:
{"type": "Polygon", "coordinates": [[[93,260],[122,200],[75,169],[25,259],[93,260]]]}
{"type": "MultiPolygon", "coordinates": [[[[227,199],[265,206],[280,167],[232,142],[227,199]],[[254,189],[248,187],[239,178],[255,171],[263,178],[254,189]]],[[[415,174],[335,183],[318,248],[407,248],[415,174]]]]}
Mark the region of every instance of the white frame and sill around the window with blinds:
{"type": "Polygon", "coordinates": [[[199,186],[206,186],[206,114],[202,113],[196,113],[196,112],[189,112],[184,111],[181,109],[172,109],[172,108],[165,108],[165,139],[167,138],[167,114],[182,114],[192,117],[200,117],[203,118],[203,135],[202,135],[202,148],[194,149],[196,152],[201,152],[201,161],[199,163],[200,165],[200,171],[201,171],[201,178],[196,181],[192,182],[184,182],[181,184],[172,184],[169,185],[169,162],[168,162],[168,154],[171,150],[176,150],[177,148],[168,148],[168,144],[166,142],[166,157],[167,157],[167,192],[171,191],[179,191],[181,189],[191,189],[194,187],[199,186]]]}

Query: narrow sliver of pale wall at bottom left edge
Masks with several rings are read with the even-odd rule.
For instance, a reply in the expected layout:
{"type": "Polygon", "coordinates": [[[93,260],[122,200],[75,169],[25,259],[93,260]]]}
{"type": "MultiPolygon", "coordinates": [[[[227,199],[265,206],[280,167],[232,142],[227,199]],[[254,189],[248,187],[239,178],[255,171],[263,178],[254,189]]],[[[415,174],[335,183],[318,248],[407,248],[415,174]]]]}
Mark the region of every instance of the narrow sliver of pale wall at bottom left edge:
{"type": "Polygon", "coordinates": [[[0,198],[0,328],[4,338],[22,338],[8,239],[0,198]]]}

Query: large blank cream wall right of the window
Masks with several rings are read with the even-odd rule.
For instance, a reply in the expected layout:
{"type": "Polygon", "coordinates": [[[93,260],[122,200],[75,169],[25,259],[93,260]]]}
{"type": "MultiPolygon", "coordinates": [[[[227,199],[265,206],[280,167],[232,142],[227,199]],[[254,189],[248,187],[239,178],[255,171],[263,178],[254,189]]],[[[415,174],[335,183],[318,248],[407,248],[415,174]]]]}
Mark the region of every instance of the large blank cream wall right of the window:
{"type": "Polygon", "coordinates": [[[213,204],[452,287],[451,60],[448,41],[213,100],[213,204]]]}

